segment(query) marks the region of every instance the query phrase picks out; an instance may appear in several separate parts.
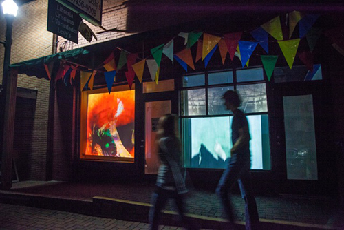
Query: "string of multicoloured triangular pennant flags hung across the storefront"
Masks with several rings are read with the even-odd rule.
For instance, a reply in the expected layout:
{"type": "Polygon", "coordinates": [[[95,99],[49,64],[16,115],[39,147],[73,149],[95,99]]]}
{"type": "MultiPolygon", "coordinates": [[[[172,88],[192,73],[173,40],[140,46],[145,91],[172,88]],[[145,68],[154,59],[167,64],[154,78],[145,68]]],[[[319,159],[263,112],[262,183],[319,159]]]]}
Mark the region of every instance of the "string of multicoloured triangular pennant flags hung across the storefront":
{"type": "MultiPolygon", "coordinates": [[[[84,88],[89,88],[92,90],[94,77],[98,72],[104,75],[110,93],[112,85],[115,81],[116,73],[121,70],[125,64],[127,64],[125,76],[129,88],[131,89],[135,76],[138,78],[138,81],[142,83],[144,66],[146,64],[151,76],[151,80],[158,84],[162,55],[165,55],[168,59],[170,59],[173,65],[173,61],[177,61],[187,72],[188,67],[190,67],[192,70],[195,70],[194,63],[200,61],[201,59],[204,61],[205,67],[207,67],[211,57],[215,51],[219,49],[219,54],[222,58],[222,64],[225,62],[226,55],[229,54],[231,61],[233,61],[235,56],[237,56],[237,58],[239,58],[241,61],[242,67],[248,67],[250,57],[255,51],[255,48],[257,48],[257,45],[260,45],[261,48],[263,48],[263,50],[266,52],[266,54],[261,54],[259,56],[266,72],[266,76],[270,81],[279,56],[269,54],[269,42],[277,42],[279,44],[279,48],[281,48],[281,52],[283,53],[283,56],[286,59],[290,69],[292,69],[295,56],[298,54],[299,59],[312,72],[312,52],[316,45],[316,41],[321,35],[321,29],[312,28],[312,26],[318,18],[319,15],[317,14],[303,15],[298,11],[290,12],[288,14],[288,39],[283,38],[281,20],[279,16],[271,19],[267,23],[264,23],[263,25],[259,26],[259,28],[255,28],[254,30],[250,31],[250,35],[252,35],[252,38],[255,39],[255,41],[241,41],[241,35],[243,32],[223,34],[223,36],[215,36],[206,32],[180,32],[178,36],[184,38],[185,47],[178,52],[174,52],[174,37],[166,44],[164,43],[156,46],[155,48],[151,48],[151,56],[139,61],[137,61],[138,53],[131,54],[122,49],[120,49],[120,56],[117,65],[114,52],[111,52],[107,59],[103,61],[103,66],[101,66],[98,70],[79,70],[78,67],[80,66],[73,65],[65,61],[61,63],[56,74],[55,81],[63,79],[63,81],[65,81],[67,84],[69,79],[69,82],[72,84],[72,80],[75,79],[76,71],[80,71],[80,90],[83,90],[84,88]],[[297,25],[299,25],[299,37],[297,39],[290,39],[294,34],[294,29],[297,25]],[[272,41],[269,41],[269,35],[272,36],[272,41]],[[304,38],[307,39],[309,50],[297,53],[300,40],[304,38]],[[191,47],[193,47],[193,45],[197,45],[195,60],[193,60],[193,55],[191,54],[191,47]]],[[[47,76],[49,79],[51,79],[52,63],[45,64],[45,70],[47,72],[47,76]]]]}

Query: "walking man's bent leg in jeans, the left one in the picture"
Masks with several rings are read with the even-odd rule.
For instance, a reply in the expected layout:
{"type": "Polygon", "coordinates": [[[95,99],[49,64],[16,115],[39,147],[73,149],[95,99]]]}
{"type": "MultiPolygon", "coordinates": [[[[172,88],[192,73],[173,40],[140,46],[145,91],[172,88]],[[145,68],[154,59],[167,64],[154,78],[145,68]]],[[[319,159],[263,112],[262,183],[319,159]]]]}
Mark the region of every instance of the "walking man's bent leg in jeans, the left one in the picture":
{"type": "Polygon", "coordinates": [[[233,187],[234,183],[237,181],[239,176],[241,166],[237,161],[236,156],[230,158],[230,162],[228,163],[228,167],[224,170],[221,179],[219,180],[219,184],[216,188],[216,194],[219,196],[222,202],[222,208],[226,213],[228,220],[234,224],[234,215],[233,210],[230,204],[230,194],[228,191],[231,187],[233,187]]]}

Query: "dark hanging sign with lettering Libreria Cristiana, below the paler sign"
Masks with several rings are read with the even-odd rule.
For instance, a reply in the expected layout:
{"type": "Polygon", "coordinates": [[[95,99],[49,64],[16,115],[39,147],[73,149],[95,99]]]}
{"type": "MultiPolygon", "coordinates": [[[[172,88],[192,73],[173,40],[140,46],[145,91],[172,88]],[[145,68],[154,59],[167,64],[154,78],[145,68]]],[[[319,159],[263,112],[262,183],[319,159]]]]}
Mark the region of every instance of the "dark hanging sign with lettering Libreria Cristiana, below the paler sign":
{"type": "Polygon", "coordinates": [[[78,43],[81,18],[56,0],[49,0],[47,8],[47,31],[78,43]]]}

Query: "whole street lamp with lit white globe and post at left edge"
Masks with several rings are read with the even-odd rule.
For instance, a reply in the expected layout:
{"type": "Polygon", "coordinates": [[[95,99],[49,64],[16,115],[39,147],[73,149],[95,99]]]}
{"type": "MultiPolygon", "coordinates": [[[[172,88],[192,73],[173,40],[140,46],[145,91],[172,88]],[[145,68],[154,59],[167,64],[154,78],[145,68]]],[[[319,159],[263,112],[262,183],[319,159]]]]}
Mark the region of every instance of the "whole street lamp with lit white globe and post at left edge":
{"type": "Polygon", "coordinates": [[[15,91],[14,91],[14,105],[12,87],[15,84],[17,90],[17,76],[13,81],[12,76],[9,75],[9,65],[11,58],[12,45],[12,24],[14,18],[17,16],[18,6],[13,0],[5,0],[1,4],[3,8],[3,15],[6,19],[6,40],[3,43],[5,46],[5,55],[3,58],[3,79],[1,89],[1,189],[10,189],[12,187],[12,150],[13,150],[13,129],[14,129],[14,111],[15,111],[15,91]],[[11,87],[11,89],[9,88],[11,87]]]}

